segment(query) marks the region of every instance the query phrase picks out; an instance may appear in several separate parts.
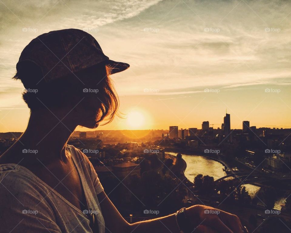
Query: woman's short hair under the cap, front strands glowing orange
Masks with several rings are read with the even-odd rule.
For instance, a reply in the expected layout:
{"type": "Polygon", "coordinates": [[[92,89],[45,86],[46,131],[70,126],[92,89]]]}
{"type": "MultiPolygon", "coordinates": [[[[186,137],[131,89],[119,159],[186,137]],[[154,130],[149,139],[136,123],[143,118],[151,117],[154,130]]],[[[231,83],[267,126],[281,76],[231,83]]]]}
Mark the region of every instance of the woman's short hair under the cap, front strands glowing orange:
{"type": "MultiPolygon", "coordinates": [[[[31,111],[62,108],[69,103],[75,106],[83,99],[86,101],[89,98],[97,98],[101,102],[99,108],[102,113],[98,122],[106,120],[104,124],[107,124],[113,120],[119,107],[119,98],[109,77],[110,73],[109,66],[99,64],[46,83],[42,79],[41,69],[28,62],[25,64],[25,70],[17,72],[13,79],[20,79],[25,86],[22,98],[31,111]],[[95,91],[90,92],[89,89],[95,91]]],[[[84,104],[88,104],[87,102],[84,104]]]]}

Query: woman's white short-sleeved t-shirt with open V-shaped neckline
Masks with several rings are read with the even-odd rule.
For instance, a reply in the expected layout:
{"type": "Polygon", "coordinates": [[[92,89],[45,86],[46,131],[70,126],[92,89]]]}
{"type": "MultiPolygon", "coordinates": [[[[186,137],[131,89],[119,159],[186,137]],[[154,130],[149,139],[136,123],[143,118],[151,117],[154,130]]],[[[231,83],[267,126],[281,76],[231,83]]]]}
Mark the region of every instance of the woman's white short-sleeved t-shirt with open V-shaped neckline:
{"type": "MultiPolygon", "coordinates": [[[[104,233],[104,219],[97,199],[103,187],[88,158],[74,146],[67,145],[67,150],[81,177],[87,207],[97,216],[99,233],[104,233]]],[[[27,168],[0,164],[1,232],[92,233],[89,224],[87,214],[27,168]]]]}

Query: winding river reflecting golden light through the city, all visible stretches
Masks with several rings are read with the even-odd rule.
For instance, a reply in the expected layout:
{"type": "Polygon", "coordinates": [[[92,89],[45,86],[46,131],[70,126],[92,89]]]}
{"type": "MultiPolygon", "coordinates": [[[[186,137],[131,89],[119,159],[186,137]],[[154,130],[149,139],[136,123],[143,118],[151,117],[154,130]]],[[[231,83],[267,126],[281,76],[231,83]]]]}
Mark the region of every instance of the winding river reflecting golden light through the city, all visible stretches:
{"type": "MultiPolygon", "coordinates": [[[[171,154],[176,156],[177,153],[174,152],[166,152],[167,154],[171,154]]],[[[224,166],[212,159],[200,156],[200,155],[189,155],[189,154],[182,154],[182,158],[187,163],[187,168],[185,171],[185,176],[188,178],[189,181],[193,182],[194,178],[198,174],[202,175],[209,175],[214,178],[214,180],[219,179],[220,177],[226,176],[225,171],[223,171],[224,166]]],[[[260,190],[259,186],[253,184],[246,184],[246,191],[249,192],[251,198],[254,198],[257,192],[260,190]]],[[[284,204],[286,198],[279,198],[276,203],[274,209],[281,210],[281,204],[284,204]]],[[[263,205],[263,204],[262,204],[263,205]]]]}

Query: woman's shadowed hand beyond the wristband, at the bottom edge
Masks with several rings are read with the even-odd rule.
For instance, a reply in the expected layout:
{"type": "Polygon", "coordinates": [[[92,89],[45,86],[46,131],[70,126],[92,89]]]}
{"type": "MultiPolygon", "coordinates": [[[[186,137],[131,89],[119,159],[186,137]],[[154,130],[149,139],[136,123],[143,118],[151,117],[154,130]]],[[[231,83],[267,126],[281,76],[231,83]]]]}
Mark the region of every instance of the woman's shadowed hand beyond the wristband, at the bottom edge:
{"type": "Polygon", "coordinates": [[[216,208],[205,205],[194,205],[186,210],[186,215],[187,218],[190,219],[190,221],[191,219],[194,219],[193,223],[195,224],[195,226],[193,227],[193,229],[199,225],[203,225],[203,227],[205,226],[210,228],[210,230],[206,229],[205,232],[243,232],[243,226],[236,215],[227,213],[216,208]],[[211,229],[215,231],[211,231],[211,229]]]}

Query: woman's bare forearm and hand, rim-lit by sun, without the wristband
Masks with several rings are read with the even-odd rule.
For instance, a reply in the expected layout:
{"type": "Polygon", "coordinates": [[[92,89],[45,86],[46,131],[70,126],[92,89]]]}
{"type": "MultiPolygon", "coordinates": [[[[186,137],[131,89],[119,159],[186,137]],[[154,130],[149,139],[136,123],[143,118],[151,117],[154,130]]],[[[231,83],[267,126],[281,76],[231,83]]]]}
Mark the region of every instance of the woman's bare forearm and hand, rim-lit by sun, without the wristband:
{"type": "MultiPolygon", "coordinates": [[[[162,218],[156,218],[147,221],[140,221],[129,224],[122,218],[114,204],[109,200],[105,192],[98,194],[98,200],[102,215],[105,221],[105,227],[112,233],[178,233],[179,228],[176,224],[175,214],[170,214],[162,218]]],[[[217,210],[208,206],[195,205],[186,209],[186,216],[190,225],[194,229],[199,226],[195,233],[241,233],[242,225],[236,215],[225,211],[217,210]]]]}

